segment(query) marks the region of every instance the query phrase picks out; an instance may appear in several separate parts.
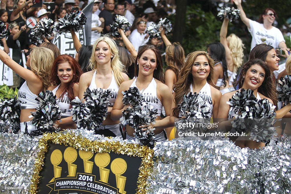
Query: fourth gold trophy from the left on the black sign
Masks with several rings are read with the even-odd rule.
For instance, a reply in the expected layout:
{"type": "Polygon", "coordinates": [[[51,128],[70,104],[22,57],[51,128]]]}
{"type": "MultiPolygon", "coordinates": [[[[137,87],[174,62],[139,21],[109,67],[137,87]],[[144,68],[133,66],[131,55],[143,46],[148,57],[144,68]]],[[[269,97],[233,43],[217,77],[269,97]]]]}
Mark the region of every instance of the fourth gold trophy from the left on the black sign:
{"type": "Polygon", "coordinates": [[[108,183],[110,170],[104,167],[108,166],[108,164],[110,163],[110,155],[107,152],[97,153],[95,155],[94,161],[95,164],[99,167],[100,181],[108,183]]]}

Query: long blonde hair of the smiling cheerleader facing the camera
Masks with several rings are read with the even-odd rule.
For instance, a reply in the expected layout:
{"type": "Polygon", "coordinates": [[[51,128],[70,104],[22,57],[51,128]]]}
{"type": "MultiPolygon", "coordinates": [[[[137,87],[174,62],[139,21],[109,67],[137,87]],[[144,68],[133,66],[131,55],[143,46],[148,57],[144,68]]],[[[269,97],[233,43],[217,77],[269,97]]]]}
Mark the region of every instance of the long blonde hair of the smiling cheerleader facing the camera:
{"type": "Polygon", "coordinates": [[[125,72],[125,66],[119,60],[117,45],[115,41],[109,37],[109,35],[101,35],[95,41],[93,45],[92,55],[89,62],[90,67],[93,70],[94,69],[97,70],[97,61],[95,59],[95,49],[96,49],[97,44],[101,41],[104,41],[109,45],[110,52],[113,55],[113,58],[111,58],[111,69],[113,70],[113,75],[114,75],[117,85],[120,86],[120,84],[124,81],[124,78],[121,73],[125,72]]]}

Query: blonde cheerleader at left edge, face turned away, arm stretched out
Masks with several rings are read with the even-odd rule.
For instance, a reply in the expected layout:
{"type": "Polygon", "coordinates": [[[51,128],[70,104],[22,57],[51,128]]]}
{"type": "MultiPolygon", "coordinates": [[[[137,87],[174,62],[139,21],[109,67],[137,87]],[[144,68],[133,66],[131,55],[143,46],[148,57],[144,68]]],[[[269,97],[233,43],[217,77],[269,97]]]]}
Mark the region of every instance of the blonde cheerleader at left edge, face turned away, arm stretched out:
{"type": "Polygon", "coordinates": [[[35,112],[39,104],[38,101],[36,101],[36,97],[38,97],[37,94],[50,86],[49,75],[54,62],[53,52],[47,48],[41,47],[31,49],[26,62],[26,66],[31,70],[16,63],[1,49],[0,59],[15,73],[25,79],[25,82],[18,90],[18,99],[21,102],[21,131],[25,132],[26,129],[28,132],[36,130],[31,123],[33,119],[33,117],[31,117],[31,112],[35,112]]]}

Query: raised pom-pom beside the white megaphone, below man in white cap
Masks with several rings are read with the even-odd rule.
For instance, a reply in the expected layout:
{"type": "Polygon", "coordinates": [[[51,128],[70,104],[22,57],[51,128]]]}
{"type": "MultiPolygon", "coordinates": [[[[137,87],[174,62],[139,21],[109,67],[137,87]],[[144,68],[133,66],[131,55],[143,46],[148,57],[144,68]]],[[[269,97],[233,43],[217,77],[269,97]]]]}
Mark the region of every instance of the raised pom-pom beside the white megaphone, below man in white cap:
{"type": "Polygon", "coordinates": [[[42,18],[37,24],[36,28],[31,30],[29,40],[35,45],[43,42],[42,38],[49,38],[54,31],[54,22],[51,19],[42,18]]]}

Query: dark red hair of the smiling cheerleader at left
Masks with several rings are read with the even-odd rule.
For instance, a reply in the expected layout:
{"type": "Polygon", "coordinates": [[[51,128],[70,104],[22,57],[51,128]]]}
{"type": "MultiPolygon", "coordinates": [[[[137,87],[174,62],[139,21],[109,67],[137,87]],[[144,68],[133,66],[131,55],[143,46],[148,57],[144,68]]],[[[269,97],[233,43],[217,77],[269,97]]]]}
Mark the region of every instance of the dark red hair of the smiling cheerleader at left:
{"type": "Polygon", "coordinates": [[[74,86],[75,83],[79,82],[80,76],[82,74],[82,70],[80,69],[80,66],[77,63],[77,61],[72,56],[70,56],[70,55],[60,55],[54,60],[54,64],[52,66],[52,72],[51,72],[51,83],[54,86],[55,85],[59,85],[61,83],[61,80],[57,76],[57,74],[58,74],[58,64],[66,63],[66,62],[68,62],[70,64],[74,75],[73,75],[73,78],[70,81],[70,83],[68,83],[65,86],[65,89],[64,89],[63,94],[61,96],[63,96],[66,92],[68,92],[68,98],[70,100],[73,100],[75,98],[74,97],[73,86],[74,86]]]}

